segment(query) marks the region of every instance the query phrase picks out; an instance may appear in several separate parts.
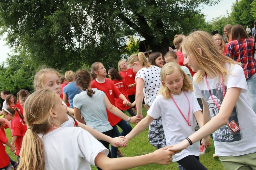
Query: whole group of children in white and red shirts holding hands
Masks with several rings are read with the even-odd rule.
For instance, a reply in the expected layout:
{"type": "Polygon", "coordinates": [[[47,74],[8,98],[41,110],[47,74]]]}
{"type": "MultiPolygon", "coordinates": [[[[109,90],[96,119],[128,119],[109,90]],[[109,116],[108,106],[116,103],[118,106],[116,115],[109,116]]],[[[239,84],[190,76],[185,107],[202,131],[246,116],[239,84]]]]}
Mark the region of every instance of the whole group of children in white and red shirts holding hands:
{"type": "MultiPolygon", "coordinates": [[[[90,169],[89,164],[98,169],[130,169],[171,161],[184,169],[207,169],[199,160],[199,140],[207,148],[211,134],[215,154],[225,169],[256,169],[256,114],[241,63],[224,56],[207,32],[195,31],[181,38],[178,50],[183,54],[184,67],[177,64],[175,52],[167,53],[165,61],[172,62],[165,65],[161,53],[153,53],[149,62],[139,52],[129,57],[130,68],[125,61],[119,62],[121,77],[116,70],[109,70],[113,82],[105,78],[107,72],[100,62],[94,63],[90,72],[78,71],[75,82],[82,92],[73,99],[74,109],[69,109],[75,119],[67,114],[67,106],[59,97],[58,72],[39,71],[34,78],[35,92],[24,105],[24,118],[17,109],[3,111],[11,124],[27,126],[27,132],[20,131],[26,133],[18,169],[90,169]],[[195,73],[193,83],[187,66],[195,73]],[[132,90],[122,94],[119,88],[132,90]],[[150,107],[145,118],[141,110],[144,98],[150,107]],[[203,110],[197,98],[201,98],[203,110]],[[122,103],[126,107],[119,107],[122,103]],[[136,104],[136,115],[131,103],[136,104]],[[121,110],[129,110],[132,117],[121,110]],[[80,123],[81,116],[86,125],[80,123]],[[137,125],[132,129],[129,122],[137,125]],[[118,147],[126,147],[148,126],[148,139],[159,150],[116,158],[118,147]]],[[[15,148],[13,141],[10,144],[1,138],[1,142],[16,149],[17,154],[18,144],[15,148]]]]}

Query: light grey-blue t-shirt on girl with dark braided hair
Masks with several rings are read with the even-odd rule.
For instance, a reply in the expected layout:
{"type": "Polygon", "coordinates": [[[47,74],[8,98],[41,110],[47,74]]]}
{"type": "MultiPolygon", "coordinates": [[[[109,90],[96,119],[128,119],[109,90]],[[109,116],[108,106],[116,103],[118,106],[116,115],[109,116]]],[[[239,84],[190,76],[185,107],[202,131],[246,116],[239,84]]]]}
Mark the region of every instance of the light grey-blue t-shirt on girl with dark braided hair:
{"type": "Polygon", "coordinates": [[[106,132],[113,127],[108,121],[108,115],[106,113],[106,106],[104,102],[103,91],[98,89],[92,89],[95,91],[93,97],[87,95],[87,92],[83,91],[75,95],[73,99],[73,106],[80,109],[82,116],[86,124],[99,132],[106,132]],[[97,104],[97,107],[95,107],[97,104]]]}

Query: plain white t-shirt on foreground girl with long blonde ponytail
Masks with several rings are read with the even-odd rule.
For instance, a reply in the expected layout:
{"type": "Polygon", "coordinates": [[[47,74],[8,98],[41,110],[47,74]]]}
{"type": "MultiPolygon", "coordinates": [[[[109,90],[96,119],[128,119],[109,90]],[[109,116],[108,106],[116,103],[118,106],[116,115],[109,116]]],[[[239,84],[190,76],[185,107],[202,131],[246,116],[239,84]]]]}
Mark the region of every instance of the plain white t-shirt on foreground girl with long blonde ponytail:
{"type": "Polygon", "coordinates": [[[41,137],[44,144],[45,169],[91,169],[95,157],[106,149],[90,133],[80,127],[57,128],[41,137]]]}

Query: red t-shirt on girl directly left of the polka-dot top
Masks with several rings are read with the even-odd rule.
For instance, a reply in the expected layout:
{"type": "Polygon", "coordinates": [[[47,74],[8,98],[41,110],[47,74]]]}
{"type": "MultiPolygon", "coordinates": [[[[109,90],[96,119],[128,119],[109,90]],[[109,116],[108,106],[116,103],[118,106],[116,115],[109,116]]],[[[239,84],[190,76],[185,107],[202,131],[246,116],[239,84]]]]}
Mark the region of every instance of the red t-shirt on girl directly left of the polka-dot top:
{"type": "MultiPolygon", "coordinates": [[[[120,76],[122,76],[123,80],[125,81],[127,88],[130,84],[134,84],[135,83],[135,76],[136,73],[133,72],[133,70],[131,68],[129,68],[127,71],[122,71],[119,73],[120,76]]],[[[136,85],[130,89],[127,89],[127,94],[128,95],[133,95],[136,93],[136,85]]]]}

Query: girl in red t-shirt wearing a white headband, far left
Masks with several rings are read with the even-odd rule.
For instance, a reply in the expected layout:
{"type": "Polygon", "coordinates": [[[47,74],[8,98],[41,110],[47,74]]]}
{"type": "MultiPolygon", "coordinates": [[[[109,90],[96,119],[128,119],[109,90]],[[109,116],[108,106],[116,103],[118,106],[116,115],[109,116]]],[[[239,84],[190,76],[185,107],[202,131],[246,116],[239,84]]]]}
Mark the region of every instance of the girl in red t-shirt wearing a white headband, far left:
{"type": "Polygon", "coordinates": [[[11,144],[15,144],[16,146],[16,155],[17,161],[19,161],[19,151],[22,146],[22,139],[27,131],[27,125],[25,124],[24,118],[22,114],[19,113],[18,109],[15,107],[14,109],[11,107],[6,107],[3,110],[3,115],[5,119],[11,122],[11,131],[12,131],[12,142],[11,144]],[[16,115],[19,116],[16,116],[16,115]]]}

